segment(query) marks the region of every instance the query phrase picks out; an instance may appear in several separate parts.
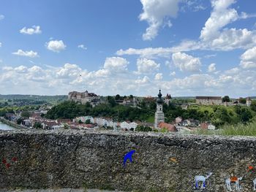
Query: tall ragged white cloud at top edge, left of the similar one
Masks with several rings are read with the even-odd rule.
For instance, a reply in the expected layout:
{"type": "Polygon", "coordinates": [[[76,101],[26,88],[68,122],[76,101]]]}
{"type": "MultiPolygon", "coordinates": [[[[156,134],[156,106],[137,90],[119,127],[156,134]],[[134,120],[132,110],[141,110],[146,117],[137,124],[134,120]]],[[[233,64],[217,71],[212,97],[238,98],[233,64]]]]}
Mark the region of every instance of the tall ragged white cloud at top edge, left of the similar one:
{"type": "MultiPolygon", "coordinates": [[[[148,22],[148,28],[143,34],[143,40],[151,40],[157,37],[159,28],[164,24],[166,18],[175,18],[178,12],[179,0],[140,0],[143,12],[140,20],[148,22]]],[[[169,26],[170,21],[168,21],[169,26]]]]}

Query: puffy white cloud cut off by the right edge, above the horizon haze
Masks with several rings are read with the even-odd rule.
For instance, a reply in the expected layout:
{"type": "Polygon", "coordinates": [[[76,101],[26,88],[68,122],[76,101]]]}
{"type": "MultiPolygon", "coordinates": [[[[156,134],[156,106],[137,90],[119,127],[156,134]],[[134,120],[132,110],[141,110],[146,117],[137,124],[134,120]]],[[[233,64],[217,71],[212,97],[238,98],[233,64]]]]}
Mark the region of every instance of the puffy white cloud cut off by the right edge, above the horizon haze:
{"type": "Polygon", "coordinates": [[[256,47],[252,47],[241,55],[240,66],[244,69],[256,68],[256,47]]]}

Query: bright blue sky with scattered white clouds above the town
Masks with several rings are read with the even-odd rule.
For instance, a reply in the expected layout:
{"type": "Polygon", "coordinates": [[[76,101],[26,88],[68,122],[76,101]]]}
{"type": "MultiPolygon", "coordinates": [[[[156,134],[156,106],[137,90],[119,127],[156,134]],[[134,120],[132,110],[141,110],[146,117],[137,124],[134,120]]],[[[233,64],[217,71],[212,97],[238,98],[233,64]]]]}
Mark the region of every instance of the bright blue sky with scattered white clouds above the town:
{"type": "Polygon", "coordinates": [[[256,96],[255,0],[0,4],[0,94],[256,96]]]}

